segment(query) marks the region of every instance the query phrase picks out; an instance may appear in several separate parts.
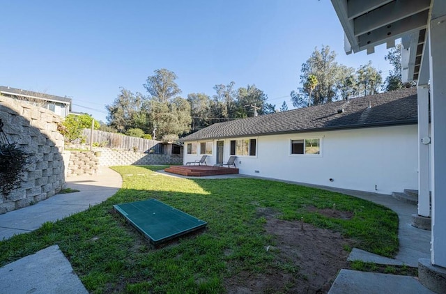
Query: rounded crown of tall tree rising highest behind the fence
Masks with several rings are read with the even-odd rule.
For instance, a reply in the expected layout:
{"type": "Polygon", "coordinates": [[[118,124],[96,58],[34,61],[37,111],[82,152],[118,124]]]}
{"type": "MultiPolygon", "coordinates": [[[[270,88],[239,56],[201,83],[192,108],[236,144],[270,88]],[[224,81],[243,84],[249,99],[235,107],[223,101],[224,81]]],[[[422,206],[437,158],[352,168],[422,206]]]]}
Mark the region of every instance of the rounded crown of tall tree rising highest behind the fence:
{"type": "Polygon", "coordinates": [[[178,84],[175,82],[176,79],[178,77],[174,72],[161,68],[155,70],[155,75],[148,76],[146,84],[143,86],[149,93],[151,100],[168,102],[169,99],[181,93],[178,84]]]}

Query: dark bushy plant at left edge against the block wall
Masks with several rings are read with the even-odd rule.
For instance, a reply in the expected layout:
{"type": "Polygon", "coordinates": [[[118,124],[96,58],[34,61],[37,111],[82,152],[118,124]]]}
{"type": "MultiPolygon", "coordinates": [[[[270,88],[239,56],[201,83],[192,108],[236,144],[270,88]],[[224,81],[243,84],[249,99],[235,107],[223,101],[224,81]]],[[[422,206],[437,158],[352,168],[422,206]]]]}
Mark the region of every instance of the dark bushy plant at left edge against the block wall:
{"type": "Polygon", "coordinates": [[[29,154],[26,154],[17,143],[0,144],[0,191],[8,195],[20,185],[23,173],[27,171],[29,154]]]}

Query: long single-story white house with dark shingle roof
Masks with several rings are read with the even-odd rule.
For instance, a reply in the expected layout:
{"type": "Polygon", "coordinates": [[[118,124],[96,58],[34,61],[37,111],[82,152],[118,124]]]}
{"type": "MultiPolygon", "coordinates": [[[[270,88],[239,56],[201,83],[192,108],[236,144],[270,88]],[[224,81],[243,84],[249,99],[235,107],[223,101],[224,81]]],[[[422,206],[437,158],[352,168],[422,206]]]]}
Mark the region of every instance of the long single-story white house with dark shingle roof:
{"type": "Polygon", "coordinates": [[[236,155],[245,175],[383,194],[417,189],[417,89],[216,123],[180,141],[184,162],[236,155]]]}

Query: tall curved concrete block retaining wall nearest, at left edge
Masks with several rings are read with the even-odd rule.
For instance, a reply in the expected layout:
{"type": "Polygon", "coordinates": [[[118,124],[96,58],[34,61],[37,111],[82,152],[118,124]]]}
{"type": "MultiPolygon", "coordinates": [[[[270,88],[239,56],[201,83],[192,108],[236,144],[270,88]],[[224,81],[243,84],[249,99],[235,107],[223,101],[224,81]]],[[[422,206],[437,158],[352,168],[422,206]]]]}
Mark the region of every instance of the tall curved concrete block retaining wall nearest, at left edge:
{"type": "Polygon", "coordinates": [[[0,119],[10,143],[31,155],[20,187],[0,193],[0,214],[47,199],[65,184],[63,136],[57,131],[61,118],[52,111],[0,95],[0,119]]]}

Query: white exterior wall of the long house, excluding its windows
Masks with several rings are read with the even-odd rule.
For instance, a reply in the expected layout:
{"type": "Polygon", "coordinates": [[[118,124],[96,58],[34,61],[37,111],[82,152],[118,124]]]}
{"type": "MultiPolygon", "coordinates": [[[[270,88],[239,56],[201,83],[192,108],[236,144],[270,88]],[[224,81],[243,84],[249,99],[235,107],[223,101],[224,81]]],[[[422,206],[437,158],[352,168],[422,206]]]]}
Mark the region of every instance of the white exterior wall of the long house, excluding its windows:
{"type": "MultiPolygon", "coordinates": [[[[241,174],[380,194],[417,189],[417,125],[246,139],[254,138],[257,139],[256,156],[237,157],[241,174]],[[321,139],[321,155],[291,155],[292,139],[316,138],[321,139]]],[[[215,164],[216,141],[222,140],[214,140],[213,155],[208,155],[207,164],[215,164]]],[[[224,139],[225,162],[230,156],[230,141],[224,139]]],[[[197,153],[185,154],[184,162],[201,158],[199,145],[197,153]]]]}

